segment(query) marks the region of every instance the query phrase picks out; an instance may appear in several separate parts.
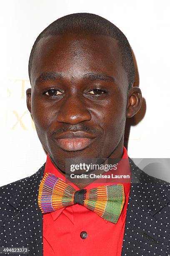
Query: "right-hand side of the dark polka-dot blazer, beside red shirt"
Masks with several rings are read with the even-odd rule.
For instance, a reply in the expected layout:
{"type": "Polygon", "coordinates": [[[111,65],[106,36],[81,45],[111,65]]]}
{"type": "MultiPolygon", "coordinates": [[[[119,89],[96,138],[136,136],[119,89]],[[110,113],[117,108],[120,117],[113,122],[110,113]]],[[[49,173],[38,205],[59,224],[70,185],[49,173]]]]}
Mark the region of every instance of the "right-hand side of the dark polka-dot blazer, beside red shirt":
{"type": "Polygon", "coordinates": [[[167,256],[170,238],[169,184],[150,177],[132,159],[129,160],[132,182],[121,255],[167,256]]]}

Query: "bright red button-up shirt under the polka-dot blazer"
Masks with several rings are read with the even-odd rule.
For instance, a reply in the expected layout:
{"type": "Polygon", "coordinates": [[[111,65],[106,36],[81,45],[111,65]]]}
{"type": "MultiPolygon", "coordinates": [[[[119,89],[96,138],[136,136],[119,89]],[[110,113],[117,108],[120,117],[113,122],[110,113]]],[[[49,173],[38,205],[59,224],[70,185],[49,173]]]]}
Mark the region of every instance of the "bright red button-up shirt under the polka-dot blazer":
{"type": "MultiPolygon", "coordinates": [[[[123,169],[123,173],[131,174],[125,147],[122,159],[119,162],[120,168],[118,168],[123,169]],[[121,166],[122,159],[126,159],[126,164],[121,166]]],[[[45,172],[50,172],[65,180],[65,176],[52,164],[48,155],[45,172]]],[[[115,174],[115,170],[107,172],[107,174],[109,173],[115,174]]],[[[98,180],[96,179],[95,182],[87,185],[84,189],[108,185],[108,183],[97,183],[98,180]]],[[[120,256],[130,193],[130,181],[121,183],[125,188],[125,205],[116,224],[104,220],[95,212],[79,204],[43,214],[43,256],[120,256]],[[82,231],[87,233],[85,239],[80,237],[82,231]]],[[[76,190],[80,189],[75,184],[69,184],[76,190]]],[[[112,182],[111,184],[114,183],[112,182]]]]}

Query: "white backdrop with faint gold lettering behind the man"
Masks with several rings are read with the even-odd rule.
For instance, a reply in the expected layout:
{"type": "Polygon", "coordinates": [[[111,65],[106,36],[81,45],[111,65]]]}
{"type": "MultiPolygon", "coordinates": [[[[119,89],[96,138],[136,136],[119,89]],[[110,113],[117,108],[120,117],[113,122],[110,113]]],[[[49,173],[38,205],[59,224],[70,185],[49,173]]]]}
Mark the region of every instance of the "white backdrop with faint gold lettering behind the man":
{"type": "Polygon", "coordinates": [[[170,157],[169,0],[10,0],[0,8],[0,186],[32,175],[46,161],[26,107],[28,59],[39,33],[70,13],[101,15],[125,33],[146,102],[144,118],[130,129],[128,154],[170,157]]]}

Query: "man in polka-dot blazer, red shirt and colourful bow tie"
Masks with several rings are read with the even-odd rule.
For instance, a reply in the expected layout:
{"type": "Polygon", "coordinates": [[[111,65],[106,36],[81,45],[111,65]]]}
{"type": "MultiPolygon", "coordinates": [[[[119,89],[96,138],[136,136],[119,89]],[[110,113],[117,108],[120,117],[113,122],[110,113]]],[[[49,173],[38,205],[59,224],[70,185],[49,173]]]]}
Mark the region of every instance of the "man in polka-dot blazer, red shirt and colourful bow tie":
{"type": "Polygon", "coordinates": [[[134,73],[127,38],[98,15],[67,15],[40,33],[30,54],[27,106],[47,161],[0,188],[0,246],[29,247],[30,256],[170,255],[170,184],[141,171],[123,147],[126,118],[142,102],[134,73]],[[121,159],[119,170],[130,171],[131,183],[67,182],[67,159],[83,157],[121,159]],[[94,209],[85,205],[89,191],[101,187],[121,188],[120,205],[109,197],[112,212],[109,200],[97,212],[98,194],[94,209]],[[70,199],[62,197],[67,188],[70,199]]]}

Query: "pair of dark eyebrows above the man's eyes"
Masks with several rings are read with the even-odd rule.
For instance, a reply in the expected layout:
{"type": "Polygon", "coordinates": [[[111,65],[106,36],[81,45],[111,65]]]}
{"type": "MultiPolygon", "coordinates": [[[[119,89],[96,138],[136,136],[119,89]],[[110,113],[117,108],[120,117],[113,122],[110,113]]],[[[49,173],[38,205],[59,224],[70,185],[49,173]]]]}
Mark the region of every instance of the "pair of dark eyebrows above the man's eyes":
{"type": "MultiPolygon", "coordinates": [[[[46,73],[40,74],[40,76],[36,79],[35,83],[48,81],[48,80],[55,80],[57,78],[64,78],[64,77],[60,72],[46,72],[46,73]]],[[[100,80],[100,81],[106,81],[106,82],[110,82],[110,81],[115,82],[114,77],[105,73],[87,73],[87,74],[84,74],[82,78],[87,80],[92,80],[92,81],[100,80]]]]}

